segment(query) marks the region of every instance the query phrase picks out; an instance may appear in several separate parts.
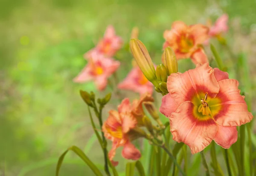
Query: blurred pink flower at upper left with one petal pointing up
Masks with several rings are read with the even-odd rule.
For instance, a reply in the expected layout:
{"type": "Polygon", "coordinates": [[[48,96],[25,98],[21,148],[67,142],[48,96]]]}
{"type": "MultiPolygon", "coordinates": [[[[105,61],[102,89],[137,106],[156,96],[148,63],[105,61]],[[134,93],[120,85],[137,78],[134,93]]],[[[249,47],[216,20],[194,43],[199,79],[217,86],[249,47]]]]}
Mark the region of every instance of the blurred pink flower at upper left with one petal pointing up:
{"type": "Polygon", "coordinates": [[[116,35],[113,26],[108,26],[103,39],[99,41],[95,48],[85,53],[84,58],[90,58],[93,51],[97,51],[107,57],[113,57],[116,51],[122,47],[122,43],[122,38],[116,35]]]}

